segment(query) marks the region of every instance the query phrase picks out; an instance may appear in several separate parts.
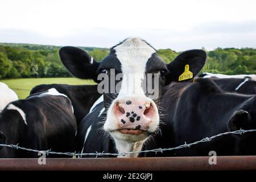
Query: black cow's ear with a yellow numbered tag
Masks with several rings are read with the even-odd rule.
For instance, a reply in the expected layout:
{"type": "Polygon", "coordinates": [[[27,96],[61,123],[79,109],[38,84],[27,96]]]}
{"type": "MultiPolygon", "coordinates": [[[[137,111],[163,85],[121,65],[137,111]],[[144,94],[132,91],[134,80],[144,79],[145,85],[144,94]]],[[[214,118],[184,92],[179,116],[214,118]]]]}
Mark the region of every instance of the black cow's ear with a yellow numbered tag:
{"type": "Polygon", "coordinates": [[[174,61],[167,65],[169,73],[166,84],[171,81],[189,81],[201,71],[207,54],[201,49],[193,49],[180,53],[174,61]]]}

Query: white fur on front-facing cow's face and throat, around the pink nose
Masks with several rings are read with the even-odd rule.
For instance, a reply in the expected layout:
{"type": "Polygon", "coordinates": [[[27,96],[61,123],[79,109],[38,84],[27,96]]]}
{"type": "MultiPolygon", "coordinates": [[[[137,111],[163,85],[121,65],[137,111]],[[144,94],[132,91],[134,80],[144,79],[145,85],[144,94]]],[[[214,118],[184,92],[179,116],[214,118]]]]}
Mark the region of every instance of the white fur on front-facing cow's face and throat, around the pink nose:
{"type": "Polygon", "coordinates": [[[119,126],[113,113],[113,106],[115,101],[118,100],[137,100],[138,98],[143,100],[143,102],[152,103],[156,115],[152,118],[152,123],[150,127],[148,127],[148,131],[155,131],[159,124],[158,109],[154,101],[145,96],[142,89],[142,81],[144,79],[144,73],[146,72],[147,61],[156,51],[140,38],[128,38],[113,49],[121,63],[123,77],[119,94],[117,98],[112,101],[108,109],[104,130],[112,131],[112,137],[115,140],[119,152],[139,150],[142,148],[143,140],[147,135],[128,136],[116,131],[119,126]]]}

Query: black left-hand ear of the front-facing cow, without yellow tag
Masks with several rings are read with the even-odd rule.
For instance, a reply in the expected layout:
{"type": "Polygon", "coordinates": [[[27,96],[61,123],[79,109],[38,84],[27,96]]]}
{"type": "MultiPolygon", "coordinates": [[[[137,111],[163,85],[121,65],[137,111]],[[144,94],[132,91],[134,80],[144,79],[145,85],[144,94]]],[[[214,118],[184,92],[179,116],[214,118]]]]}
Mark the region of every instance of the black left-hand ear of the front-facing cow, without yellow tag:
{"type": "Polygon", "coordinates": [[[64,66],[74,76],[97,81],[97,69],[100,65],[92,56],[77,47],[62,47],[59,51],[64,66]]]}

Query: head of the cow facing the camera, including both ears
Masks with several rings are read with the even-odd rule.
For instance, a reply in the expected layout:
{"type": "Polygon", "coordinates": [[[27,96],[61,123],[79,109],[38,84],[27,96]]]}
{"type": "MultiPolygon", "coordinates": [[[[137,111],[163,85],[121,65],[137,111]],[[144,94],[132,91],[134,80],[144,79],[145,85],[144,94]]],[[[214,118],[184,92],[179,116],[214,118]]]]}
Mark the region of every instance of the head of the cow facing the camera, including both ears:
{"type": "Polygon", "coordinates": [[[104,93],[107,111],[104,130],[112,134],[118,145],[122,142],[143,143],[148,135],[157,131],[158,104],[164,85],[178,81],[188,65],[189,71],[195,76],[205,63],[206,53],[198,49],[185,51],[170,64],[166,64],[150,44],[139,38],[127,38],[110,48],[109,55],[100,63],[82,49],[75,47],[61,48],[60,58],[65,67],[79,78],[100,82],[97,77],[102,73],[109,77],[122,74],[122,81],[118,81],[120,78],[112,80],[112,84],[109,81],[110,86],[119,84],[119,92],[104,93]],[[143,89],[142,84],[143,81],[149,80],[145,75],[150,73],[154,75],[152,84],[159,88],[158,96],[154,99],[150,97],[147,89],[143,89]],[[156,83],[155,77],[158,79],[156,83]]]}

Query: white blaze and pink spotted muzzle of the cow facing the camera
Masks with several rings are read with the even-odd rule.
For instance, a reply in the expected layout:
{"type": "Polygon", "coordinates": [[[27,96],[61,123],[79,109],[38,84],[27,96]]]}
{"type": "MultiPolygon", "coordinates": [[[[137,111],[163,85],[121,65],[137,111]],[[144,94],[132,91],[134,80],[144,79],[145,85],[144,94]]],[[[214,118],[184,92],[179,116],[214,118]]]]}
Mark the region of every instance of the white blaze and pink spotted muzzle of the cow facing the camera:
{"type": "Polygon", "coordinates": [[[155,49],[139,38],[129,38],[113,48],[121,63],[121,89],[107,112],[104,129],[115,140],[137,142],[154,133],[159,125],[158,109],[142,89],[148,59],[155,49]]]}

